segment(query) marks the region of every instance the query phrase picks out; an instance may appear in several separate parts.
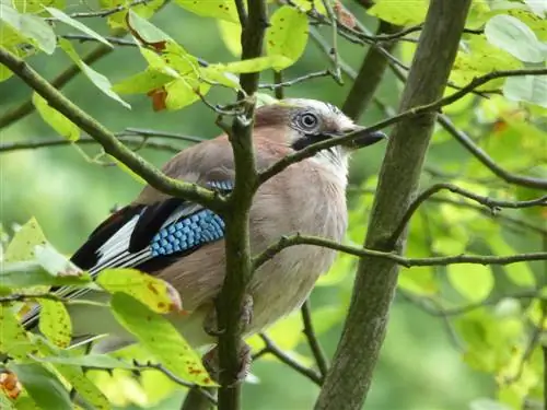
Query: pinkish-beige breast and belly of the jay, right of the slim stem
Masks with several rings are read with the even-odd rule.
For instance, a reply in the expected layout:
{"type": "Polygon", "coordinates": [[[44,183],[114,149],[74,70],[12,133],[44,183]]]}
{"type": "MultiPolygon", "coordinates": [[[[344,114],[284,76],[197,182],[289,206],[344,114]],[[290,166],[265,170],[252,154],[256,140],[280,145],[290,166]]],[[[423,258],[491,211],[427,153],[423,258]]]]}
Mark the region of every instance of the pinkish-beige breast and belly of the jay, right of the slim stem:
{"type": "MultiPolygon", "coordinates": [[[[312,235],[341,242],[347,227],[345,180],[317,168],[282,173],[263,186],[251,214],[254,255],[283,235],[312,235]],[[298,173],[301,171],[301,173],[298,173]],[[302,172],[305,172],[302,175],[302,172]],[[284,178],[282,177],[284,176],[284,178]]],[[[283,249],[253,277],[253,330],[264,328],[299,308],[336,251],[312,245],[283,249]]]]}

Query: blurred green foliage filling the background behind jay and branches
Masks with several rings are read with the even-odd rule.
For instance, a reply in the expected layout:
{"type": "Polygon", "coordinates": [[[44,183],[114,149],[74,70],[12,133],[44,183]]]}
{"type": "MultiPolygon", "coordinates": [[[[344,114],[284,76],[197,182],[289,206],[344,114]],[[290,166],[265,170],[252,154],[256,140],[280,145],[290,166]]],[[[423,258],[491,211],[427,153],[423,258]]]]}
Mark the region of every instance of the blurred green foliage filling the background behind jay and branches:
{"type": "MultiPolygon", "coordinates": [[[[38,12],[39,7],[36,4],[39,3],[46,4],[30,2],[30,9],[18,10],[25,13],[22,14],[26,15],[25,19],[35,22],[38,17],[28,13],[38,12]]],[[[219,81],[220,74],[214,69],[222,72],[226,67],[223,65],[238,59],[240,31],[235,9],[214,9],[217,3],[223,4],[223,1],[210,1],[207,8],[191,3],[195,2],[175,1],[155,14],[154,11],[161,5],[160,1],[137,5],[132,9],[137,13],[136,24],[153,37],[158,35],[158,31],[147,25],[144,20],[150,17],[155,27],[174,40],[171,47],[183,47],[184,52],[190,56],[189,59],[195,56],[218,65],[207,71],[207,75],[210,75],[210,79],[216,75],[214,79],[219,81]],[[138,20],[138,15],[143,19],[138,20]]],[[[309,7],[307,1],[295,3],[309,7]]],[[[534,5],[538,9],[531,9],[527,3],[474,2],[469,24],[473,27],[486,24],[486,33],[465,36],[451,81],[465,85],[474,77],[492,70],[529,67],[531,63],[545,66],[545,43],[542,43],[547,39],[545,10],[539,10],[539,5],[534,5]],[[544,13],[543,17],[540,13],[544,13]],[[540,44],[543,55],[537,51],[540,44]]],[[[65,13],[71,14],[98,8],[108,9],[117,4],[104,0],[101,4],[48,1],[46,5],[62,9],[65,13]]],[[[317,4],[318,11],[323,12],[321,4],[322,2],[317,4]]],[[[427,7],[426,1],[395,4],[384,0],[365,13],[357,2],[348,1],[345,4],[371,31],[376,25],[374,16],[397,24],[420,23],[427,7]]],[[[291,42],[291,36],[282,31],[270,33],[270,40],[287,42],[289,45],[289,48],[270,47],[275,50],[271,52],[281,54],[289,60],[269,61],[266,67],[287,67],[283,71],[286,79],[329,68],[328,58],[309,40],[307,32],[303,37],[302,28],[306,23],[302,14],[294,14],[293,10],[287,7],[279,13],[278,20],[294,20],[300,35],[291,42]],[[305,44],[307,45],[304,49],[305,44]],[[282,66],[279,66],[280,63],[282,66]]],[[[112,28],[125,27],[126,14],[121,12],[107,19],[86,19],[80,22],[94,32],[106,35],[107,24],[112,28]]],[[[68,22],[68,25],[56,23],[55,34],[73,33],[74,27],[78,28],[78,25],[66,17],[61,21],[68,22]]],[[[5,47],[11,47],[10,49],[20,56],[30,54],[27,48],[15,47],[22,38],[11,26],[4,22],[1,23],[0,30],[5,47]]],[[[319,27],[318,31],[325,38],[329,38],[329,27],[319,27]]],[[[50,44],[43,37],[34,38],[31,34],[27,42],[48,52],[50,44]]],[[[152,42],[150,38],[147,37],[147,40],[152,42]]],[[[199,86],[200,91],[208,93],[208,101],[216,104],[230,103],[234,98],[232,90],[226,87],[201,89],[205,85],[200,75],[190,75],[185,82],[173,81],[164,75],[168,63],[153,60],[150,56],[142,58],[147,57],[146,52],[141,56],[132,47],[116,47],[114,52],[92,67],[82,66],[80,58],[96,48],[95,43],[63,40],[61,47],[66,54],[57,48],[53,56],[36,54],[28,57],[27,61],[47,79],[54,79],[71,61],[75,61],[86,75],[74,78],[62,89],[62,93],[114,131],[133,127],[212,138],[219,133],[214,126],[216,114],[205,104],[196,103],[199,98],[188,90],[199,86]],[[101,79],[97,73],[104,75],[108,84],[118,84],[113,90],[124,93],[123,96],[109,98],[112,94],[105,90],[110,93],[113,91],[108,84],[105,86],[102,80],[97,80],[101,79]],[[133,77],[136,74],[140,77],[133,77]],[[131,80],[127,82],[127,79],[131,80]],[[163,103],[167,108],[184,106],[184,109],[154,112],[152,108],[161,107],[162,104],[158,105],[155,99],[147,96],[151,83],[154,86],[167,84],[167,91],[173,91],[171,95],[178,99],[173,97],[163,103]],[[131,105],[131,109],[125,108],[115,98],[123,98],[131,105]]],[[[401,43],[397,56],[405,63],[410,63],[414,50],[415,44],[401,43]]],[[[365,51],[366,47],[338,38],[340,59],[356,70],[365,51]]],[[[185,65],[188,61],[179,63],[185,65]]],[[[237,66],[237,70],[235,66],[231,67],[232,72],[242,70],[241,66],[237,66]]],[[[177,69],[179,68],[178,66],[177,69]]],[[[205,71],[201,75],[206,75],[205,71]]],[[[2,77],[7,77],[4,68],[0,69],[0,78],[2,77]]],[[[265,70],[261,79],[264,82],[274,82],[272,70],[265,70]]],[[[515,78],[509,83],[510,86],[504,80],[497,80],[481,90],[503,87],[505,96],[499,93],[491,94],[488,99],[468,95],[445,107],[444,112],[455,126],[467,132],[504,169],[546,178],[547,92],[543,94],[543,91],[547,87],[545,81],[538,79],[515,78]],[[532,92],[534,90],[536,92],[532,92]]],[[[304,96],[341,105],[350,86],[351,81],[347,77],[344,85],[336,84],[329,78],[318,78],[287,87],[284,92],[287,96],[304,96]]],[[[376,93],[383,105],[370,106],[360,122],[373,124],[384,118],[386,113],[383,106],[396,107],[401,87],[396,78],[387,72],[376,93]]],[[[450,89],[446,91],[452,92],[450,89]]],[[[31,94],[30,90],[14,78],[0,83],[0,117],[31,98],[31,94]]],[[[40,141],[59,134],[72,140],[78,139],[78,130],[70,127],[70,124],[62,124],[62,119],[56,117],[57,113],[51,113],[51,108],[39,97],[34,96],[33,99],[39,113],[54,128],[34,113],[24,120],[0,130],[3,144],[40,141]]],[[[162,141],[161,138],[153,140],[162,141]]],[[[178,148],[185,147],[172,140],[164,142],[178,148]]],[[[384,147],[374,145],[357,153],[352,159],[348,194],[348,243],[360,245],[364,238],[376,184],[375,175],[383,150],[384,147]]],[[[158,165],[172,155],[165,151],[149,149],[146,144],[139,153],[158,165]]],[[[35,218],[47,241],[66,256],[79,247],[113,207],[129,202],[142,187],[138,179],[116,166],[110,157],[102,155],[101,150],[91,144],[0,153],[0,172],[3,231],[11,236],[15,224],[22,225],[35,218]]],[[[508,200],[525,200],[542,194],[539,190],[504,184],[493,177],[490,171],[441,128],[435,130],[421,185],[426,187],[438,181],[451,181],[477,195],[508,200]]],[[[36,233],[34,238],[40,237],[38,234],[36,233]]],[[[496,216],[474,202],[443,192],[426,202],[414,216],[406,251],[410,257],[462,253],[510,255],[538,251],[545,249],[546,243],[545,208],[503,210],[496,216]]],[[[24,255],[19,255],[16,260],[24,259],[24,255]]],[[[351,296],[354,263],[352,257],[340,255],[312,294],[313,320],[328,356],[333,355],[341,331],[351,296]]],[[[493,406],[489,401],[476,401],[490,397],[512,409],[520,409],[524,399],[540,398],[544,368],[540,365],[540,340],[536,339],[537,328],[545,327],[543,306],[533,297],[501,296],[519,295],[526,291],[529,296],[534,289],[542,290],[546,281],[546,269],[544,262],[519,263],[504,268],[454,265],[447,268],[401,269],[399,293],[391,314],[388,333],[366,408],[461,410],[470,408],[473,403],[473,410],[476,410],[488,408],[488,403],[493,406]],[[487,302],[482,303],[484,301],[487,302]],[[456,312],[457,315],[442,314],[444,309],[457,309],[470,303],[482,303],[482,306],[462,309],[456,312]]],[[[50,307],[54,311],[58,305],[50,307]]],[[[3,342],[26,338],[15,321],[9,325],[10,327],[3,329],[3,342]],[[5,329],[11,331],[9,337],[5,336],[5,329]]],[[[313,365],[301,330],[302,323],[296,312],[276,324],[268,330],[268,335],[281,349],[302,363],[313,365]]],[[[47,336],[47,331],[45,333],[47,336]]],[[[261,347],[261,341],[256,337],[249,342],[256,350],[261,347]]],[[[57,348],[54,345],[42,349],[50,352],[51,350],[47,349],[57,348]]],[[[148,358],[147,352],[139,347],[130,347],[114,355],[123,359],[148,358]]],[[[45,368],[35,364],[33,366],[45,368]]],[[[56,368],[73,386],[88,383],[80,373],[74,373],[73,366],[56,368]]],[[[25,370],[22,374],[27,375],[28,372],[25,370]]],[[[256,376],[255,380],[246,384],[244,388],[245,409],[303,410],[312,407],[317,395],[318,388],[310,380],[269,355],[253,365],[253,375],[256,376]]],[[[155,371],[144,371],[140,378],[123,368],[115,370],[112,375],[91,371],[90,377],[118,408],[176,409],[185,395],[183,388],[155,371]]],[[[39,394],[28,394],[39,402],[39,394]]],[[[26,401],[28,405],[28,400],[26,401]]],[[[19,406],[23,406],[22,402],[19,406]]]]}

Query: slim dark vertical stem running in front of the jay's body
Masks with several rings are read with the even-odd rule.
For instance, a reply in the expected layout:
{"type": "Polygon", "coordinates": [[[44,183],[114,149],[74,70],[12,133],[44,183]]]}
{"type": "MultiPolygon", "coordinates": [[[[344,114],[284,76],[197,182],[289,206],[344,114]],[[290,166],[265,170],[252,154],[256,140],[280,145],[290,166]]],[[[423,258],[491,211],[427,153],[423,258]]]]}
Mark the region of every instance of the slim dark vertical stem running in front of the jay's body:
{"type": "MultiPolygon", "coordinates": [[[[245,13],[243,1],[236,1],[240,22],[242,23],[242,60],[259,57],[268,25],[265,0],[249,1],[245,13]]],[[[242,368],[240,351],[243,347],[241,315],[246,286],[253,269],[249,245],[249,210],[255,192],[257,171],[253,147],[253,117],[255,110],[254,94],[258,89],[259,72],[242,73],[240,83],[243,92],[237,102],[245,115],[236,116],[229,132],[235,163],[235,186],[229,197],[225,218],[225,256],[226,274],[217,301],[219,329],[219,363],[221,388],[219,409],[236,410],[241,408],[241,386],[236,375],[242,368]]]]}

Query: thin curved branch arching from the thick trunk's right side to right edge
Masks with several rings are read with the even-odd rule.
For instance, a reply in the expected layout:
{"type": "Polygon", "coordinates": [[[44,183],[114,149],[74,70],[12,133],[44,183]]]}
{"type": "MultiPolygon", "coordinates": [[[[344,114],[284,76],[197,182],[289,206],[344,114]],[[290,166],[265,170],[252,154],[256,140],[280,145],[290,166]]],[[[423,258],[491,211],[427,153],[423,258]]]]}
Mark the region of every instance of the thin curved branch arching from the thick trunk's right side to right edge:
{"type": "Polygon", "coordinates": [[[480,195],[473,194],[468,190],[465,190],[463,188],[459,188],[453,184],[435,184],[428,189],[426,189],[423,192],[421,192],[409,206],[407,212],[403,215],[403,219],[399,223],[399,225],[395,229],[389,242],[395,243],[397,238],[400,236],[403,231],[405,231],[405,227],[407,226],[408,222],[412,218],[414,213],[418,210],[418,208],[426,201],[428,198],[431,196],[435,195],[437,192],[441,190],[450,190],[451,192],[461,195],[465,198],[472,199],[478,203],[484,204],[485,207],[488,207],[491,212],[496,212],[500,208],[531,208],[531,207],[538,207],[538,206],[547,206],[547,195],[544,195],[540,198],[527,200],[527,201],[503,201],[503,200],[498,200],[498,199],[492,199],[488,197],[482,197],[480,195]]]}

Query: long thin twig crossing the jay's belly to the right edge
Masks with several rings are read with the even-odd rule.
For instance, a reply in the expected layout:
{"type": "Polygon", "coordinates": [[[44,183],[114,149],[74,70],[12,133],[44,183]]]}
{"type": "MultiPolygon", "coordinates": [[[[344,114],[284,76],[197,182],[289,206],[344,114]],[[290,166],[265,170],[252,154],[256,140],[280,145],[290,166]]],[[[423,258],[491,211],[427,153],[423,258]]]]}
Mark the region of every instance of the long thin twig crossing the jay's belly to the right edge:
{"type": "Polygon", "coordinates": [[[423,267],[423,266],[447,266],[447,265],[461,265],[461,263],[477,263],[477,265],[511,265],[524,261],[535,261],[535,260],[546,260],[547,251],[538,251],[531,254],[516,254],[509,256],[477,256],[477,255],[454,255],[454,256],[440,256],[431,258],[406,258],[398,254],[386,253],[374,249],[358,248],[354,246],[342,245],[336,242],[316,237],[316,236],[305,236],[305,235],[291,235],[283,236],[277,243],[270,245],[260,255],[253,258],[254,269],[258,269],[260,266],[266,263],[268,260],[274,258],[281,250],[295,245],[315,245],[328,249],[334,249],[342,251],[348,255],[353,255],[357,257],[374,257],[385,260],[391,260],[397,265],[405,268],[412,267],[423,267]]]}

